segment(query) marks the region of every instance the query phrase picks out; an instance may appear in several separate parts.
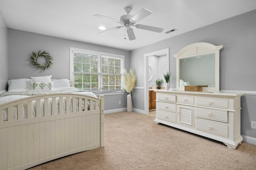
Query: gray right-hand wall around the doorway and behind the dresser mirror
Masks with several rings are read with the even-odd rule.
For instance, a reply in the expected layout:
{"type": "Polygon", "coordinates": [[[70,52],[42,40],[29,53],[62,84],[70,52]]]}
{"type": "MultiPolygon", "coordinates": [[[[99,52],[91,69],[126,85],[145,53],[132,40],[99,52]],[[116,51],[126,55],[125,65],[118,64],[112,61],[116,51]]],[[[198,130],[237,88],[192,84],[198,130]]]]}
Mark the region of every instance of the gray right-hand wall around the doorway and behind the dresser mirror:
{"type": "MultiPolygon", "coordinates": [[[[177,29],[179,29],[177,27],[177,29]]],[[[170,48],[170,71],[176,79],[176,59],[182,48],[197,42],[223,45],[220,50],[220,90],[252,91],[242,96],[241,134],[256,138],[250,121],[256,121],[256,10],[131,51],[131,68],[137,72],[136,86],[144,86],[144,54],[170,48]]],[[[176,82],[170,82],[176,87],[176,82]]],[[[144,110],[144,90],[133,93],[133,107],[144,110]]]]}

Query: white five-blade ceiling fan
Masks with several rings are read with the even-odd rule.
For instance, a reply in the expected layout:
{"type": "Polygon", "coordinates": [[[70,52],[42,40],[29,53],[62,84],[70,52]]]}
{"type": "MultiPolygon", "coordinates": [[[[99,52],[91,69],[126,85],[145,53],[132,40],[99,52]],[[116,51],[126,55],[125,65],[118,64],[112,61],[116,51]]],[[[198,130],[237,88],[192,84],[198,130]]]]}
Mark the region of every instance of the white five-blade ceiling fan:
{"type": "Polygon", "coordinates": [[[161,33],[164,30],[163,28],[159,28],[159,27],[152,27],[152,26],[148,26],[148,25],[136,24],[136,22],[138,22],[138,21],[142,20],[143,18],[145,18],[145,17],[149,16],[150,14],[152,14],[152,12],[150,10],[142,9],[135,16],[129,15],[131,10],[132,10],[132,8],[125,7],[124,10],[126,12],[126,15],[121,16],[120,20],[116,20],[116,19],[109,18],[109,17],[102,16],[102,15],[94,15],[95,17],[106,19],[106,20],[110,20],[110,21],[114,21],[114,22],[117,22],[117,23],[120,23],[120,24],[123,25],[123,26],[118,26],[118,27],[114,27],[114,28],[108,29],[108,30],[103,31],[103,32],[101,32],[99,34],[104,34],[104,33],[108,32],[110,30],[114,31],[116,29],[120,29],[122,27],[125,27],[129,39],[130,40],[134,40],[134,39],[136,39],[136,37],[134,35],[134,31],[131,28],[131,26],[134,26],[134,27],[136,27],[138,29],[145,29],[145,30],[148,30],[148,31],[154,31],[154,32],[158,32],[158,33],[161,33]]]}

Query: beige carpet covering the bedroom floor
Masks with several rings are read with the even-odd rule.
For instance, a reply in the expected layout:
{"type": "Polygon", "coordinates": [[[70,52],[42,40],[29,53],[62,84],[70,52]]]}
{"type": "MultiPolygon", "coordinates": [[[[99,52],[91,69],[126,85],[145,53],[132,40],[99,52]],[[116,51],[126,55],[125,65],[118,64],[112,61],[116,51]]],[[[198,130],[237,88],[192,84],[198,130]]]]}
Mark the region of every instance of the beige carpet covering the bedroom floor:
{"type": "Polygon", "coordinates": [[[155,112],[105,115],[105,147],[31,170],[256,170],[256,145],[236,150],[186,131],[156,125],[155,112]]]}

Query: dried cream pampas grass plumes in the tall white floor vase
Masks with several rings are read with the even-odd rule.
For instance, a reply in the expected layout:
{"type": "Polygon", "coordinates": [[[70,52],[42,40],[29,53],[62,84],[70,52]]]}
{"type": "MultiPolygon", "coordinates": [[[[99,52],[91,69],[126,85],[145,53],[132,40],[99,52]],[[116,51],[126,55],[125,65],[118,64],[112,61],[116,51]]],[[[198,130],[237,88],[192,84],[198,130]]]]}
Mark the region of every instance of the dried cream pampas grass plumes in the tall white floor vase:
{"type": "Polygon", "coordinates": [[[136,73],[130,69],[129,72],[127,72],[125,69],[123,70],[123,87],[124,90],[131,94],[132,90],[135,88],[136,83],[136,73]]]}

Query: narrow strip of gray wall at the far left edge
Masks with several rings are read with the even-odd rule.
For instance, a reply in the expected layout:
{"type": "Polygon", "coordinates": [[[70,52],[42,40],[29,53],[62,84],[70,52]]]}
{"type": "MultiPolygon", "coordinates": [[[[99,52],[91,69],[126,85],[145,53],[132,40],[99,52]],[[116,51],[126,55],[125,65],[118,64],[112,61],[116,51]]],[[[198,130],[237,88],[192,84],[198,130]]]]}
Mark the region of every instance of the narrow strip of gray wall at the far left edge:
{"type": "Polygon", "coordinates": [[[6,89],[8,80],[8,28],[0,11],[0,91],[6,89]]]}

